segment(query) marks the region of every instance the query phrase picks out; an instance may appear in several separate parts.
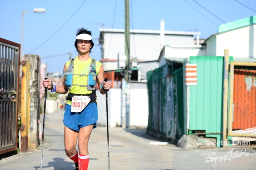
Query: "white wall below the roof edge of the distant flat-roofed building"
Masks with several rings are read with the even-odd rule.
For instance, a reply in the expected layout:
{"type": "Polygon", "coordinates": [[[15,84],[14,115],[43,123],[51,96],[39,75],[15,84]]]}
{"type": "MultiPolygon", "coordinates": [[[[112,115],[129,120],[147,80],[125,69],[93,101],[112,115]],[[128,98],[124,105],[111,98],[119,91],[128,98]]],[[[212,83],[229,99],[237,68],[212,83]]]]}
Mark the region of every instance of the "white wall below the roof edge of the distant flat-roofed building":
{"type": "MultiPolygon", "coordinates": [[[[124,53],[124,33],[106,32],[104,40],[104,59],[117,59],[118,53],[124,53]]],[[[164,44],[167,43],[194,45],[194,38],[192,35],[165,35],[164,44]]],[[[159,55],[160,34],[130,33],[131,57],[137,57],[141,61],[152,61],[158,60],[159,55]]]]}

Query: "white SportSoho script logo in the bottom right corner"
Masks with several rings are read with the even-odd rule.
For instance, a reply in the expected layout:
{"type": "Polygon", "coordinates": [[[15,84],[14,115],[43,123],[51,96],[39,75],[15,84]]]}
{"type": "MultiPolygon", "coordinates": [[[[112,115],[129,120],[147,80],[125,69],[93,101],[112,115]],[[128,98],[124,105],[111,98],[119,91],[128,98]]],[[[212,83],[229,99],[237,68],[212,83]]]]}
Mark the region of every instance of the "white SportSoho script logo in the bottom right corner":
{"type": "Polygon", "coordinates": [[[239,157],[246,157],[246,156],[249,156],[249,152],[246,152],[246,149],[244,150],[241,150],[241,152],[239,153],[239,151],[236,151],[234,152],[234,147],[228,151],[228,154],[225,154],[224,156],[215,156],[216,152],[212,152],[211,154],[209,154],[205,160],[206,163],[209,163],[209,162],[213,162],[215,160],[215,163],[216,163],[216,160],[219,160],[219,162],[223,161],[225,162],[225,160],[229,160],[231,162],[231,159],[232,158],[239,158],[239,157]],[[215,156],[215,157],[214,157],[215,156]]]}

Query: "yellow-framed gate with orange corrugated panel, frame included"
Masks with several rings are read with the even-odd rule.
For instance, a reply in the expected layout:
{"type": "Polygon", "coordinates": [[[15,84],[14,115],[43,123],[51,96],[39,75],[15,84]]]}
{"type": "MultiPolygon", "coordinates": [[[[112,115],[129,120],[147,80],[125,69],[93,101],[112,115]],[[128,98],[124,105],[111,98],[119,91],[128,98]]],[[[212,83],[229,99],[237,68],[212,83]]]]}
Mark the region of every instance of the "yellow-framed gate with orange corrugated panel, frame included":
{"type": "Polygon", "coordinates": [[[256,137],[256,63],[230,63],[228,136],[256,137]]]}

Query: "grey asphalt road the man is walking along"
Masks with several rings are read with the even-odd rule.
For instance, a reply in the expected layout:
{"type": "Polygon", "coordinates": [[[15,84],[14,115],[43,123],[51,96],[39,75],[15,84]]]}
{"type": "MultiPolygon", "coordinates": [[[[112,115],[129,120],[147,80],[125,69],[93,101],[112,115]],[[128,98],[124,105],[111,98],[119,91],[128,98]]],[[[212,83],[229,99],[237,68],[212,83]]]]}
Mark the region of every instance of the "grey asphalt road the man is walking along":
{"type": "MultiPolygon", "coordinates": [[[[43,170],[74,170],[74,162],[64,151],[63,114],[64,111],[46,114],[43,170]]],[[[148,136],[146,129],[109,128],[110,169],[256,170],[256,150],[252,146],[235,147],[233,150],[232,147],[183,150],[171,144],[150,145],[150,142],[158,142],[158,140],[148,136]],[[208,162],[206,162],[207,156],[208,162]]],[[[88,170],[108,170],[106,127],[92,130],[88,149],[90,155],[88,170]]],[[[41,145],[36,150],[0,160],[0,169],[40,170],[40,162],[41,145]]]]}

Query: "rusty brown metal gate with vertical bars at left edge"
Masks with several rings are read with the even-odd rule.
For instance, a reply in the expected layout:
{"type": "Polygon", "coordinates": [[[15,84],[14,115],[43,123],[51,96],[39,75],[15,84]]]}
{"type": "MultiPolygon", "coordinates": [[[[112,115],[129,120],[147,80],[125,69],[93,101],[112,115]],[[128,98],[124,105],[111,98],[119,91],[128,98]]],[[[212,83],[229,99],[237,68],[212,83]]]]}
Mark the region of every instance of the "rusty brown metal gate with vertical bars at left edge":
{"type": "Polygon", "coordinates": [[[20,44],[0,38],[0,154],[18,147],[20,44]]]}

